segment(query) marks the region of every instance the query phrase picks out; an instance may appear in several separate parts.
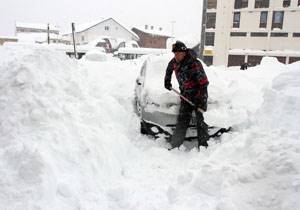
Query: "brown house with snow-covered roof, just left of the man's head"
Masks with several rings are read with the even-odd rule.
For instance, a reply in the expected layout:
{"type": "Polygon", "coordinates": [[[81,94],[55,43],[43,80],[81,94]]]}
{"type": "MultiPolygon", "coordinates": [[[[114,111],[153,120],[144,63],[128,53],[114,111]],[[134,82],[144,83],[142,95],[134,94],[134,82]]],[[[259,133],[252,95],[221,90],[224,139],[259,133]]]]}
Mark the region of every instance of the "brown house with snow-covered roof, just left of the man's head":
{"type": "Polygon", "coordinates": [[[144,48],[167,48],[167,39],[172,37],[161,27],[145,25],[143,29],[133,27],[131,30],[140,37],[138,43],[144,48]]]}

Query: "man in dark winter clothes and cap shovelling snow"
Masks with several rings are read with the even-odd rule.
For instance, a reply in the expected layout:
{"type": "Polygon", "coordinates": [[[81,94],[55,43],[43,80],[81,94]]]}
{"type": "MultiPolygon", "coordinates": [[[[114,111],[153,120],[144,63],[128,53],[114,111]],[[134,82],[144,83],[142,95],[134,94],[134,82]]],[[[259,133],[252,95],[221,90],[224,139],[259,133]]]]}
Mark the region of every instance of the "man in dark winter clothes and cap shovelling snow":
{"type": "Polygon", "coordinates": [[[195,106],[181,99],[177,125],[170,144],[173,149],[184,142],[192,112],[195,111],[198,147],[200,145],[207,147],[209,139],[207,124],[204,122],[203,114],[199,108],[203,111],[207,109],[208,79],[201,62],[192,55],[192,51],[187,49],[184,43],[176,41],[172,46],[172,52],[174,53],[174,58],[169,62],[166,69],[165,88],[172,90],[171,78],[172,73],[175,72],[181,94],[193,102],[195,106]]]}

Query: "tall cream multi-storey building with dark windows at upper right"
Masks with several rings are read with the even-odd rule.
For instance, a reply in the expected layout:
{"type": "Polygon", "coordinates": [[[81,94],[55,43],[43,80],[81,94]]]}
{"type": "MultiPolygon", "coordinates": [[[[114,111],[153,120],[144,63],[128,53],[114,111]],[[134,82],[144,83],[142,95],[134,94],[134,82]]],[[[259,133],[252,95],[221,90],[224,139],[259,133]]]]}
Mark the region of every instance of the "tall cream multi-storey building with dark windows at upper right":
{"type": "Polygon", "coordinates": [[[206,0],[203,60],[255,66],[263,56],[300,60],[300,0],[206,0]]]}

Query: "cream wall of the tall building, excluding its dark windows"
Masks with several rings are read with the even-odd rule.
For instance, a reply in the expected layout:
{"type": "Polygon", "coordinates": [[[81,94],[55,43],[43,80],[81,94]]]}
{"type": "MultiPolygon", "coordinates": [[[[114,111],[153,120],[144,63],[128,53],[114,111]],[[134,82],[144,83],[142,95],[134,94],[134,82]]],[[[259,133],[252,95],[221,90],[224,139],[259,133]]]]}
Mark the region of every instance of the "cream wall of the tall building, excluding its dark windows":
{"type": "MultiPolygon", "coordinates": [[[[248,1],[248,7],[234,9],[234,0],[218,0],[216,10],[216,28],[213,47],[213,64],[227,65],[229,50],[292,50],[300,52],[300,37],[293,37],[293,33],[300,33],[300,7],[298,0],[291,0],[289,7],[282,6],[282,0],[270,0],[269,8],[254,8],[255,0],[248,1]],[[266,28],[260,28],[261,11],[268,11],[266,28]],[[273,11],[284,11],[283,28],[272,30],[273,11]],[[233,14],[240,12],[240,27],[233,28],[233,14]],[[246,32],[247,36],[230,36],[231,32],[246,32]],[[251,32],[265,32],[267,37],[252,37],[251,32]],[[287,37],[271,37],[271,33],[288,33],[287,37]]],[[[210,12],[213,10],[208,10],[210,12]]]]}

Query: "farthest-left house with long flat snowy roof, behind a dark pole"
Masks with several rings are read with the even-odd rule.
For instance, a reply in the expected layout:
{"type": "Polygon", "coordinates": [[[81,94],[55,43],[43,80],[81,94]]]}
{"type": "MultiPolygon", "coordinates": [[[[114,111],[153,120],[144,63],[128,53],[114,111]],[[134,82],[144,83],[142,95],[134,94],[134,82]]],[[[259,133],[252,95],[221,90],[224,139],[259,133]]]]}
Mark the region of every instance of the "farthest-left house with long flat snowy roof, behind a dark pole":
{"type": "Polygon", "coordinates": [[[16,37],[19,42],[47,43],[49,32],[50,43],[70,44],[68,40],[59,34],[59,28],[46,23],[16,22],[16,37]]]}

